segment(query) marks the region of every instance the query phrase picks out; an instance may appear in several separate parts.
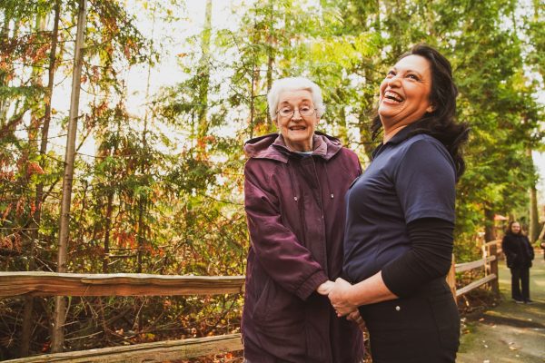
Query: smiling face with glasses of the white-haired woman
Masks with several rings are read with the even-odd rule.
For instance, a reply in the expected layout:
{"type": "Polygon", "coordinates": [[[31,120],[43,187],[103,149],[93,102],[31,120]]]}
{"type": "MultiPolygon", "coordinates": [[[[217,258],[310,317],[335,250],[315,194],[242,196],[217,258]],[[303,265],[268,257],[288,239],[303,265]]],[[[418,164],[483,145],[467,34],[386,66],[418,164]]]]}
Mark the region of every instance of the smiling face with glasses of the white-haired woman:
{"type": "Polygon", "coordinates": [[[312,93],[307,90],[280,93],[276,125],[286,146],[295,152],[312,151],[312,137],[320,118],[314,110],[312,93]]]}

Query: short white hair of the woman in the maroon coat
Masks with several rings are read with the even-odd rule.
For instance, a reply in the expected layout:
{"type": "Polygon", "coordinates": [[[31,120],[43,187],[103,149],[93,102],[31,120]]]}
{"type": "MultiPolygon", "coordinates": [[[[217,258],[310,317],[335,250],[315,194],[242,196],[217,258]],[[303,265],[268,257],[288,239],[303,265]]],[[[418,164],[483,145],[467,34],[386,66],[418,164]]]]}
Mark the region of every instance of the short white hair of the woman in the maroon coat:
{"type": "Polygon", "coordinates": [[[281,78],[272,83],[271,91],[267,94],[267,103],[269,104],[269,114],[272,120],[276,120],[276,108],[280,94],[286,91],[309,91],[312,94],[312,103],[316,107],[316,114],[322,117],[325,113],[325,104],[323,104],[322,90],[318,84],[313,83],[310,79],[304,77],[287,77],[281,78]]]}

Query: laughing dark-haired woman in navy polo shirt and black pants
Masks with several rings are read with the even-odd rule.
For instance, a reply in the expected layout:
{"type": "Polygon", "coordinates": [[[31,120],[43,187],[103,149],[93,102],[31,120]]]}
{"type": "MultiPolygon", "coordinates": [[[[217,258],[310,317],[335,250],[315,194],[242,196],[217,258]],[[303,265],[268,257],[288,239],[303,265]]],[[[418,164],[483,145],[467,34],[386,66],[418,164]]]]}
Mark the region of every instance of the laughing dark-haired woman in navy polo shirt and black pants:
{"type": "Polygon", "coordinates": [[[454,186],[468,127],[456,123],[451,64],[416,45],[381,83],[372,162],[347,192],[343,276],[329,298],[359,307],[372,361],[454,362],[460,319],[451,266],[454,186]]]}

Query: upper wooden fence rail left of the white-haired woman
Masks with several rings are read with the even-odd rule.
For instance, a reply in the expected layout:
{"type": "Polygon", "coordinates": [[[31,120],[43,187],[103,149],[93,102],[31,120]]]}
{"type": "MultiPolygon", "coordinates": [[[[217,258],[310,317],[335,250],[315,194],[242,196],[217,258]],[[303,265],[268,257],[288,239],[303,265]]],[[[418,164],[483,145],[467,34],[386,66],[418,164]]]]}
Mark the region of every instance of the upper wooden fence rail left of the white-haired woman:
{"type": "Polygon", "coordinates": [[[166,296],[239,293],[243,276],[0,272],[0,297],[166,296]]]}

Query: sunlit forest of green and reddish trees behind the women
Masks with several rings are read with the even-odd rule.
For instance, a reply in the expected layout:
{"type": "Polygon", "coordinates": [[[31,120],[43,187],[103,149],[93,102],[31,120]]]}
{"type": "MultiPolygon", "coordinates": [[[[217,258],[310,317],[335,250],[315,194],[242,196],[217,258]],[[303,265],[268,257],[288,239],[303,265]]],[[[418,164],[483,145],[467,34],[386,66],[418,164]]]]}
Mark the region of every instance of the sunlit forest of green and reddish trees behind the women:
{"type": "MultiPolygon", "coordinates": [[[[59,270],[78,4],[0,1],[0,270],[59,270]]],[[[275,132],[265,97],[272,82],[318,83],[327,105],[320,129],[365,166],[378,143],[369,126],[379,83],[422,42],[451,60],[458,119],[471,125],[457,260],[479,256],[500,215],[537,240],[544,8],[539,0],[88,0],[64,270],[242,275],[242,146],[275,132]]],[[[236,332],[242,309],[239,295],[68,302],[66,350],[236,332]]],[[[54,304],[0,300],[0,358],[50,351],[54,304]]]]}

